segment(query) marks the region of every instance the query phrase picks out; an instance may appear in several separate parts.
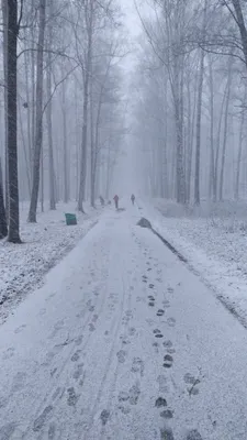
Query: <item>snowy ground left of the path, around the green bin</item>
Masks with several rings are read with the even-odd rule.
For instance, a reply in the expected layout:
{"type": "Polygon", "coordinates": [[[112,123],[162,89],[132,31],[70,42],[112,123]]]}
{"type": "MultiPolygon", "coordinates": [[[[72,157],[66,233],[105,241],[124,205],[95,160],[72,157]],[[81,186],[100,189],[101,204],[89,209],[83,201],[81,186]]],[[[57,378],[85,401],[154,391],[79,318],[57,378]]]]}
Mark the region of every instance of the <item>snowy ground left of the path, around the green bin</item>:
{"type": "Polygon", "coordinates": [[[27,293],[43,282],[48,272],[97,222],[101,208],[86,205],[87,215],[76,212],[78,224],[66,227],[65,212],[76,204],[58,204],[55,211],[38,212],[37,223],[26,222],[27,205],[21,205],[21,238],[16,245],[0,241],[0,322],[27,293]]]}

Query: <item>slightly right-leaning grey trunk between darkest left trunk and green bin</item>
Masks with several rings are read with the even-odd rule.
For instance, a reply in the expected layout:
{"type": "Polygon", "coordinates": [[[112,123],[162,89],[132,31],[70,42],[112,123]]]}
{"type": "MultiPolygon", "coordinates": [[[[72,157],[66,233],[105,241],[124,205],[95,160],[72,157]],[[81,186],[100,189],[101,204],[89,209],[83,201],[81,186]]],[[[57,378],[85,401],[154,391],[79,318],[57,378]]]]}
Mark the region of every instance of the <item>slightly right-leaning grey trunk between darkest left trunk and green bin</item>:
{"type": "Polygon", "coordinates": [[[33,185],[29,212],[29,221],[36,222],[37,198],[40,187],[41,150],[42,150],[42,121],[43,121],[43,58],[45,40],[45,7],[46,0],[40,0],[40,23],[37,43],[37,68],[36,68],[36,118],[35,118],[35,146],[33,163],[33,185]]]}

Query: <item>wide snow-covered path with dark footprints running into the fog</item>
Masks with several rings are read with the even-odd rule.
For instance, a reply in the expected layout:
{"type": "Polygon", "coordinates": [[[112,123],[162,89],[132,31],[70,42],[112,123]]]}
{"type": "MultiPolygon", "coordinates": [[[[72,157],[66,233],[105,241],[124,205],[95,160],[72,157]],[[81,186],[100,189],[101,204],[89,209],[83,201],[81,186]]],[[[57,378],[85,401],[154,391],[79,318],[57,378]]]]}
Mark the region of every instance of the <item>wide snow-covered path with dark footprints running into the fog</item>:
{"type": "Polygon", "coordinates": [[[1,440],[246,440],[246,330],[138,219],[103,215],[0,328],[1,440]]]}

